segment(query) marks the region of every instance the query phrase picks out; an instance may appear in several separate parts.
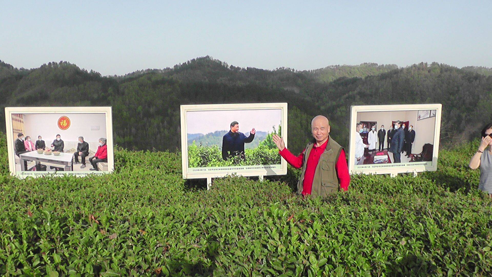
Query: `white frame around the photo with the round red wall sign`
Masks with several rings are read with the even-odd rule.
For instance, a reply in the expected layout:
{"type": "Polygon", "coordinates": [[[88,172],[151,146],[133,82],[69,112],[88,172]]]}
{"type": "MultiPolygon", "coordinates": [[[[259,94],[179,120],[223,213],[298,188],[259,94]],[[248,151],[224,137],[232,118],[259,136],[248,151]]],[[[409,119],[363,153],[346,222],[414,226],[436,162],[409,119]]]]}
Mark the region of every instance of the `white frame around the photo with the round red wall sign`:
{"type": "MultiPolygon", "coordinates": [[[[97,122],[87,122],[88,129],[92,129],[93,124],[97,124],[97,122]]],[[[26,177],[41,177],[45,175],[53,175],[53,176],[61,176],[61,175],[75,175],[79,177],[83,177],[89,174],[106,174],[112,173],[114,171],[114,149],[113,149],[113,120],[112,120],[112,108],[110,106],[101,106],[101,107],[5,107],[5,126],[6,126],[6,137],[7,137],[7,152],[8,152],[8,163],[10,174],[16,176],[20,179],[24,179],[26,177]],[[56,114],[60,116],[68,116],[72,114],[91,114],[91,113],[103,113],[105,116],[105,124],[106,124],[106,144],[107,144],[107,153],[108,153],[108,171],[90,171],[90,172],[81,172],[81,171],[18,171],[15,166],[15,153],[14,153],[14,138],[13,136],[13,126],[12,126],[12,115],[13,114],[56,114]]],[[[63,131],[58,129],[57,133],[63,134],[63,131]]],[[[24,134],[26,135],[26,134],[24,134]]],[[[36,134],[35,134],[36,135],[36,134]]],[[[34,136],[34,135],[33,135],[34,136]]],[[[80,136],[84,136],[84,134],[80,134],[80,136]]],[[[43,137],[45,138],[45,137],[43,137]]],[[[46,138],[45,138],[46,139],[46,138]]],[[[73,138],[72,138],[73,139],[73,138]]],[[[76,138],[75,138],[76,139],[76,138]]],[[[49,141],[49,140],[48,140],[49,141]]],[[[46,143],[48,145],[48,143],[46,143]]],[[[79,157],[80,159],[80,157],[79,157]]],[[[90,163],[87,163],[87,167],[91,167],[90,163]]],[[[73,168],[72,168],[73,170],[73,168]]]]}

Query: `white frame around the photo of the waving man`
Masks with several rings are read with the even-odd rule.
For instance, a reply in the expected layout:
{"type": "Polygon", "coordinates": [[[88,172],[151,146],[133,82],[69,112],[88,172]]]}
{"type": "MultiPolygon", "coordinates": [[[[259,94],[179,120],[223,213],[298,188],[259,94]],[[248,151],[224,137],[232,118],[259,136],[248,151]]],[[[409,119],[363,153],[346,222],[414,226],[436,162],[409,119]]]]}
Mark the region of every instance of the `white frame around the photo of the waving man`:
{"type": "MultiPolygon", "coordinates": [[[[225,111],[225,110],[261,110],[261,109],[280,109],[281,110],[281,137],[287,147],[287,103],[262,103],[262,104],[196,104],[181,105],[181,151],[182,169],[184,179],[193,178],[217,178],[236,174],[240,176],[266,176],[266,175],[285,175],[287,174],[287,162],[280,157],[280,168],[269,168],[263,166],[237,166],[227,168],[217,168],[214,170],[203,170],[210,168],[188,168],[188,139],[187,139],[187,112],[192,111],[225,111]],[[200,169],[200,170],[195,170],[200,169]]],[[[241,125],[241,123],[240,123],[241,125]]]]}

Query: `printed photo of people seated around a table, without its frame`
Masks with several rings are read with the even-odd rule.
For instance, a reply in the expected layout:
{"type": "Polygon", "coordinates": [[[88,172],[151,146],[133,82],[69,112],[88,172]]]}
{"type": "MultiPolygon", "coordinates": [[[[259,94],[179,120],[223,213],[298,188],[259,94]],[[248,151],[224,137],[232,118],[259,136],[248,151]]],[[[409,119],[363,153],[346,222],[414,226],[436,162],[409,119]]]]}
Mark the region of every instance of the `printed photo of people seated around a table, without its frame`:
{"type": "Polygon", "coordinates": [[[108,158],[113,151],[112,148],[108,151],[112,143],[108,143],[106,113],[23,112],[9,115],[12,136],[9,148],[13,153],[15,172],[109,171],[108,158]]]}

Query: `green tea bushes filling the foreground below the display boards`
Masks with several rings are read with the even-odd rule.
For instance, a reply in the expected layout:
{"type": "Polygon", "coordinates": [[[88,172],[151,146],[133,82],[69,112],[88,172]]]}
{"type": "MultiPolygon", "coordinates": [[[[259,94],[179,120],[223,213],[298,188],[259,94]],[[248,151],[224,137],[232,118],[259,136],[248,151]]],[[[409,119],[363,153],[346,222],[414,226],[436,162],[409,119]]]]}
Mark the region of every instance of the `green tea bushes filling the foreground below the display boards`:
{"type": "Polygon", "coordinates": [[[467,163],[353,176],[327,200],[263,182],[181,177],[179,153],[117,149],[115,173],[18,180],[0,134],[2,276],[490,276],[492,201],[467,163]]]}

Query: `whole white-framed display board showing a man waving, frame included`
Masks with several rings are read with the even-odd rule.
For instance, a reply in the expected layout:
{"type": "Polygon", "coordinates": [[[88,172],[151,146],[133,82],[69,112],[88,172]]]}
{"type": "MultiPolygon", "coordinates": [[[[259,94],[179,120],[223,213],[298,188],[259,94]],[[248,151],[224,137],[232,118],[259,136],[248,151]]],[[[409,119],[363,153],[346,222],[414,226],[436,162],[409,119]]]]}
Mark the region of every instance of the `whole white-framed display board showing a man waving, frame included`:
{"type": "Polygon", "coordinates": [[[287,163],[287,103],[181,105],[183,178],[281,175],[287,163]]]}

